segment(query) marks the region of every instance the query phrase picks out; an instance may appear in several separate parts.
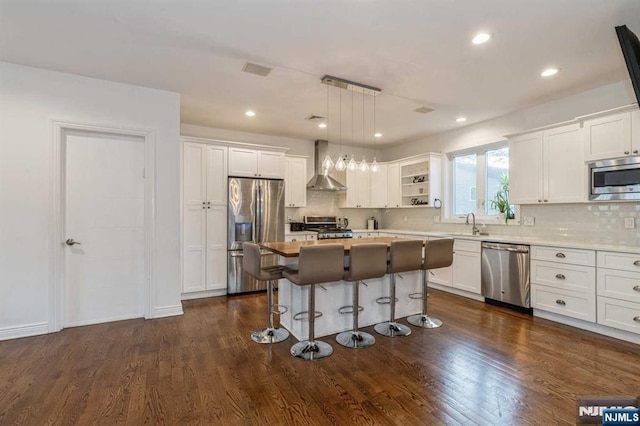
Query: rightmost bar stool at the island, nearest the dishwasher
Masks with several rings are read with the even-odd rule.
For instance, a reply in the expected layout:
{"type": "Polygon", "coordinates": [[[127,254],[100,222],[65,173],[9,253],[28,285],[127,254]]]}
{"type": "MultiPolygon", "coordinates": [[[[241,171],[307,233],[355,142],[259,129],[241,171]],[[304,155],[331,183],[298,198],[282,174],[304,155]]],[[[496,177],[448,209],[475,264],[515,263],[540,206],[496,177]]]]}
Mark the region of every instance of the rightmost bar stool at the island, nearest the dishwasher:
{"type": "Polygon", "coordinates": [[[431,240],[424,246],[424,262],[422,263],[422,294],[424,300],[421,315],[411,315],[407,321],[411,325],[422,328],[438,328],[442,321],[427,315],[427,288],[431,269],[446,268],[453,263],[453,239],[431,240]]]}

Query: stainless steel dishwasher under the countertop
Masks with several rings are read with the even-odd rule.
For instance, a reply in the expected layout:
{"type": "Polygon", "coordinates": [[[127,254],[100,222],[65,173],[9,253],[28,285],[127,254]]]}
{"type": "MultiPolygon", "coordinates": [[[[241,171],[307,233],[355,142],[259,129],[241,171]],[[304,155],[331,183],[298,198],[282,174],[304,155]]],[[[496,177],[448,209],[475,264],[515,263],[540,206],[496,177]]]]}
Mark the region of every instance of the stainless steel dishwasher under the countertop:
{"type": "Polygon", "coordinates": [[[485,299],[531,307],[529,246],[483,242],[480,271],[485,299]]]}

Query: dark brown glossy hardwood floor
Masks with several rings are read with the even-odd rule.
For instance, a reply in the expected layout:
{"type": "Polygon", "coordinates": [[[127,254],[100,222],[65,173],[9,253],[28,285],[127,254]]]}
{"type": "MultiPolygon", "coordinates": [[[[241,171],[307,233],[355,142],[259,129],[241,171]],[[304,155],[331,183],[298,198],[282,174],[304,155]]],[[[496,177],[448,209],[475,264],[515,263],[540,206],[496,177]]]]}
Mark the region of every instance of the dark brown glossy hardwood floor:
{"type": "Polygon", "coordinates": [[[319,362],[249,339],[264,294],[0,342],[0,425],[575,424],[580,396],[640,394],[638,345],[430,294],[440,329],[319,362]]]}

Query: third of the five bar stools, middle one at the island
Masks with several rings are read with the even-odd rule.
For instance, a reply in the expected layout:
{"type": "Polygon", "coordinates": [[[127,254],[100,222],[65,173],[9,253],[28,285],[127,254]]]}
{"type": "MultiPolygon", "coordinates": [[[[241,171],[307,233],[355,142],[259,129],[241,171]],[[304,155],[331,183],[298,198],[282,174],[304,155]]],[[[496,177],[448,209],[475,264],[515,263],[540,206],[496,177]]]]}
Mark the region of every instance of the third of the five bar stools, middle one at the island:
{"type": "Polygon", "coordinates": [[[349,269],[343,280],[353,282],[353,304],[343,306],[338,312],[353,313],[353,329],[336,336],[336,341],[348,348],[366,348],[373,345],[376,339],[369,333],[358,330],[358,314],[360,313],[360,282],[370,278],[384,277],[387,272],[387,245],[354,244],[349,251],[349,269]]]}

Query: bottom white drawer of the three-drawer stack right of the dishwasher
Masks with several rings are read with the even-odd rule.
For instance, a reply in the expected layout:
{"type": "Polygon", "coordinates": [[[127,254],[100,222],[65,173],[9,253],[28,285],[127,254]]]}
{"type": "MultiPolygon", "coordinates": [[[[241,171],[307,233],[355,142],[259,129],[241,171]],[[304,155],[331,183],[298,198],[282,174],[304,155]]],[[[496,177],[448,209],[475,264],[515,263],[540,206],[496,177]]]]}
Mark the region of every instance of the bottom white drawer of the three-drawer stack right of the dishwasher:
{"type": "Polygon", "coordinates": [[[596,295],[531,285],[531,307],[596,322],[596,295]]]}

